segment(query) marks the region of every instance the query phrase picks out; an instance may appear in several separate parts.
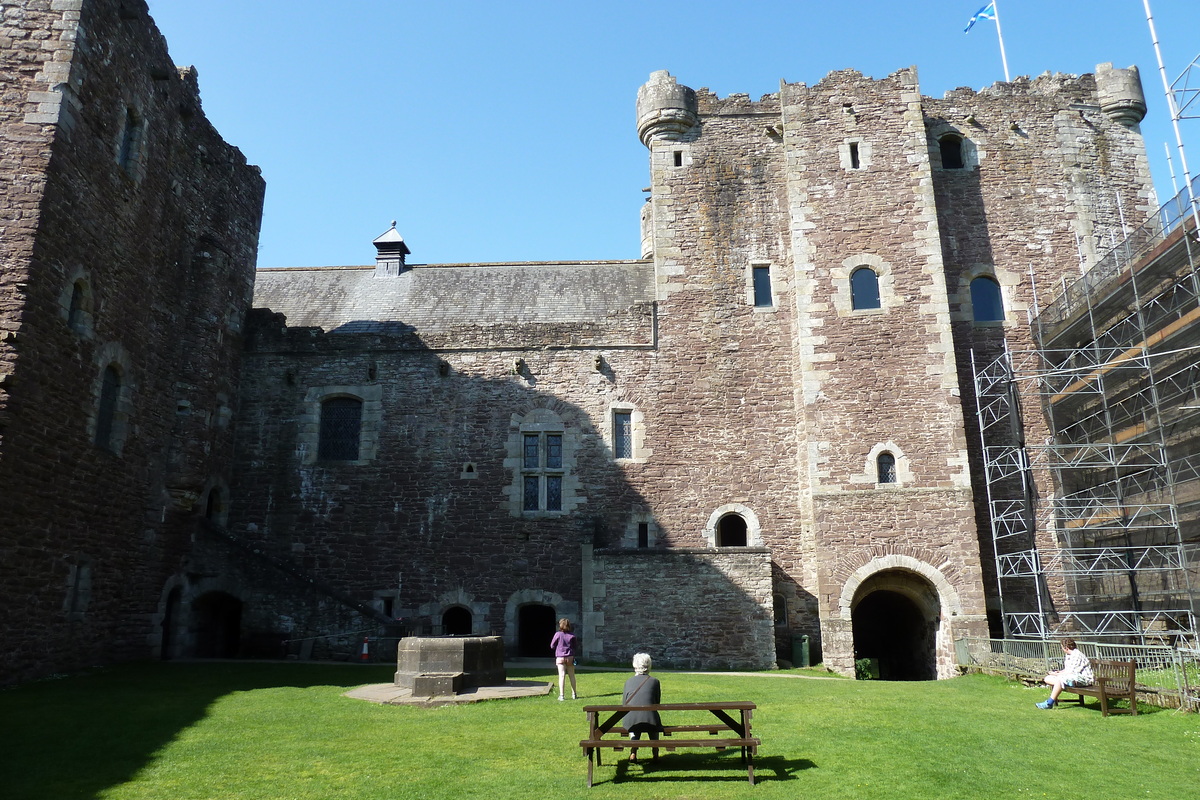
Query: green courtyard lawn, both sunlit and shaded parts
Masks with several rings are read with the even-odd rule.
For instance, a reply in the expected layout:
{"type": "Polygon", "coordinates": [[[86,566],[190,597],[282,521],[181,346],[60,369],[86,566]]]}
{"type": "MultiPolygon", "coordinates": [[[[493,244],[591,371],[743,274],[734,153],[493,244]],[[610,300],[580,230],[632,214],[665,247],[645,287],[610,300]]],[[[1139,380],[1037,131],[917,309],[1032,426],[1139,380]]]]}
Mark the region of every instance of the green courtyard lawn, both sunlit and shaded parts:
{"type": "MultiPolygon", "coordinates": [[[[1200,717],[1142,706],[1039,711],[1000,678],[884,682],[661,673],[666,702],[750,699],[758,784],[736,753],[679,751],[584,787],[580,706],[624,673],[580,673],[554,696],[442,708],[342,696],[380,666],[133,664],[0,692],[5,800],[619,798],[1188,798],[1200,717]]],[[[548,672],[512,678],[551,680],[548,672]]]]}

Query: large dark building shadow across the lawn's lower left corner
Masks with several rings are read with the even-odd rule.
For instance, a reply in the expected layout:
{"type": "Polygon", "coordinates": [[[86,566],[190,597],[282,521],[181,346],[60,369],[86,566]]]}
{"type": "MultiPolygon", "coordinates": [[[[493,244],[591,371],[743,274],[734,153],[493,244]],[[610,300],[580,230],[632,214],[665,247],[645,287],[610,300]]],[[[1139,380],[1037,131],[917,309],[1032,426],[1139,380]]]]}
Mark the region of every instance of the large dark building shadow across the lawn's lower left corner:
{"type": "Polygon", "coordinates": [[[0,795],[98,798],[133,778],[220,698],[256,688],[384,682],[395,667],[127,664],[0,691],[0,795]]]}

